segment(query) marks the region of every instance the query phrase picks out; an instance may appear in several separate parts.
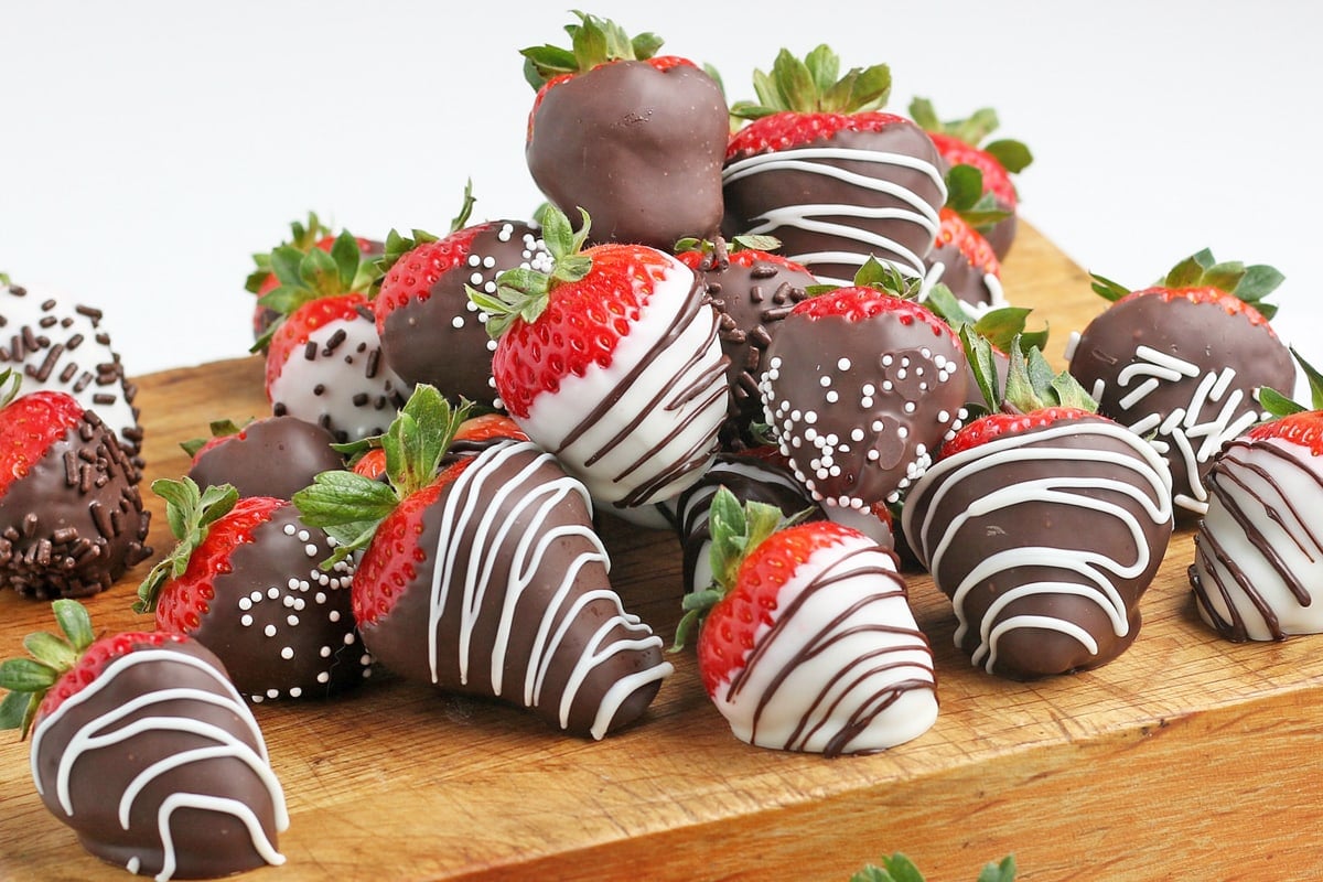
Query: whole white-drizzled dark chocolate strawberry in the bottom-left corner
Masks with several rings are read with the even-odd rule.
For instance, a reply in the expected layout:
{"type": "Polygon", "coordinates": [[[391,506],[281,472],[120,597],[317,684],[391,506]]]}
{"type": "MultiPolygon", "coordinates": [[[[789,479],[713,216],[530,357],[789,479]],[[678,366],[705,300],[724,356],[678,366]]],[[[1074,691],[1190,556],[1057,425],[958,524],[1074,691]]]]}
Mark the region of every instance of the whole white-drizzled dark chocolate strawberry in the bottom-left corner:
{"type": "Polygon", "coordinates": [[[30,635],[33,657],[0,665],[0,727],[30,731],[50,813],[95,857],[161,881],[283,863],[284,793],[221,661],[177,633],[98,639],[75,600],[52,607],[64,635],[30,635]]]}

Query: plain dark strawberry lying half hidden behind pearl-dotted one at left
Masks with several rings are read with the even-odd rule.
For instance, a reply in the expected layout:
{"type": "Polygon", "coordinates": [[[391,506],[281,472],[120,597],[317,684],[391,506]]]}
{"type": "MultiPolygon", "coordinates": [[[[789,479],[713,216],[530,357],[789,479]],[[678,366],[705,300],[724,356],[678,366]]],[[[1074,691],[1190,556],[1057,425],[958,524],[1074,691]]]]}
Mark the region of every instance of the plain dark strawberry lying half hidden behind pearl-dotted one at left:
{"type": "Polygon", "coordinates": [[[198,487],[230,484],[239,496],[290,499],[329,468],[344,468],[331,432],[298,417],[262,417],[243,426],[217,421],[209,439],[183,444],[198,487]]]}

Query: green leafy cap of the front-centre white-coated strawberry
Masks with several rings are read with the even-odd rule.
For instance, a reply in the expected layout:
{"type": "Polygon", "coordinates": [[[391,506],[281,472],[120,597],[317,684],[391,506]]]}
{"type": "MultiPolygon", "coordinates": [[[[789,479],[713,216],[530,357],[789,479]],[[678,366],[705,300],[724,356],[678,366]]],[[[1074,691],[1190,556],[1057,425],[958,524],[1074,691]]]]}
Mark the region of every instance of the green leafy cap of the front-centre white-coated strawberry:
{"type": "Polygon", "coordinates": [[[712,584],[685,595],[684,616],[675,628],[672,652],[684,649],[689,633],[701,627],[708,612],[734,591],[745,559],[777,530],[795,524],[806,513],[790,518],[775,505],[749,501],[741,504],[728,488],[717,488],[708,508],[708,532],[712,537],[709,561],[712,584]]]}

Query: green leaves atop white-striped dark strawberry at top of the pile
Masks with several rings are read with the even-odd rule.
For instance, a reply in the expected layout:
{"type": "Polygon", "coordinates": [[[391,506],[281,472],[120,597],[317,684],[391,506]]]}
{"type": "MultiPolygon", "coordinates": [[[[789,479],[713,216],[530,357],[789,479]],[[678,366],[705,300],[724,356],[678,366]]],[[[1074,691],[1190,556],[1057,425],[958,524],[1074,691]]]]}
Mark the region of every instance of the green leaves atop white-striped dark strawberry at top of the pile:
{"type": "Polygon", "coordinates": [[[730,115],[761,119],[782,111],[800,114],[859,114],[886,106],[892,91],[892,71],[886,65],[852,67],[840,75],[840,57],[819,45],[804,58],[782,49],[771,73],[755,70],[753,90],[757,102],[736,102],[730,115]]]}

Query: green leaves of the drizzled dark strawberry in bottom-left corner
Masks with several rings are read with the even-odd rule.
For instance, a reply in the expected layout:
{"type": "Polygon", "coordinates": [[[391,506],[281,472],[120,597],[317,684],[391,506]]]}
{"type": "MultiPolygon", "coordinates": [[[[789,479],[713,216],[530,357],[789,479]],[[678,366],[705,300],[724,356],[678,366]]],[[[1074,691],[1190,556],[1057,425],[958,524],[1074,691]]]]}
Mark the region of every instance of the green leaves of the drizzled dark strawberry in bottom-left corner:
{"type": "Polygon", "coordinates": [[[0,689],[9,693],[0,702],[0,729],[17,729],[22,738],[28,737],[46,690],[78,662],[95,640],[91,616],[83,604],[61,599],[50,604],[50,611],[61,636],[29,633],[22,645],[32,657],[0,662],[0,689]]]}

